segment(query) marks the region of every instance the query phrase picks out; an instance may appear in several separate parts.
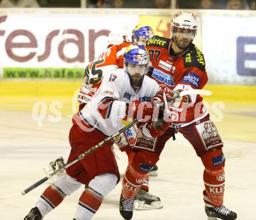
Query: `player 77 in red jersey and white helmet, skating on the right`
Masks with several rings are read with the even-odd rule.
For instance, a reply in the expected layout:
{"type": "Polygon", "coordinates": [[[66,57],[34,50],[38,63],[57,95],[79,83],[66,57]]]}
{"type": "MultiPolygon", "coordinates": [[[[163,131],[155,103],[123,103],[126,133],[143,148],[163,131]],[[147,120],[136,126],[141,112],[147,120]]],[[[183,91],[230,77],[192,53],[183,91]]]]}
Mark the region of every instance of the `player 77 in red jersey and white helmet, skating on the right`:
{"type": "MultiPolygon", "coordinates": [[[[151,67],[149,74],[158,82],[170,100],[187,89],[202,89],[208,81],[202,52],[192,43],[197,31],[197,21],[191,13],[179,12],[172,19],[172,38],[155,35],[147,41],[151,67]]],[[[158,94],[161,98],[163,93],[158,94]]],[[[123,179],[120,214],[131,219],[132,200],[145,174],[158,161],[166,141],[177,130],[189,140],[205,167],[203,198],[208,217],[233,220],[235,212],[223,205],[225,188],[225,157],[221,136],[209,119],[207,108],[199,95],[187,95],[170,102],[172,127],[161,138],[152,139],[146,132],[139,132],[133,157],[123,179]]]]}

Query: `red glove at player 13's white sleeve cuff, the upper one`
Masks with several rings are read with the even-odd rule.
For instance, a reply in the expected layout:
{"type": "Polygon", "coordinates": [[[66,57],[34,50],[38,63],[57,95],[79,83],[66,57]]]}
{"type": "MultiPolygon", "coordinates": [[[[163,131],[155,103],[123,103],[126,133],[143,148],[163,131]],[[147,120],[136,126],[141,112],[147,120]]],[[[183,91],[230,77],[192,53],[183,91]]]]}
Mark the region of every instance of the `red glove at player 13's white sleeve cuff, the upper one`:
{"type": "Polygon", "coordinates": [[[150,121],[153,114],[153,107],[150,102],[140,102],[135,100],[126,106],[126,116],[123,118],[126,121],[134,121],[136,119],[150,121]]]}

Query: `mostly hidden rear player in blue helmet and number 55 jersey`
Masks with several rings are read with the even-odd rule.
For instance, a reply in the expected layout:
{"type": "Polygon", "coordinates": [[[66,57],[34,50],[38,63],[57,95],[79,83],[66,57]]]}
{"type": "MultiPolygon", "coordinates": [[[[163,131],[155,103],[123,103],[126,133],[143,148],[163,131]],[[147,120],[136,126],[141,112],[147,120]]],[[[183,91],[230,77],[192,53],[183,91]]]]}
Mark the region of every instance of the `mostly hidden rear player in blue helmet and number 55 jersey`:
{"type": "MultiPolygon", "coordinates": [[[[79,101],[79,110],[87,104],[88,100],[94,95],[95,91],[101,85],[102,77],[112,71],[123,68],[123,53],[130,44],[145,45],[145,42],[154,35],[154,31],[150,26],[138,24],[131,33],[131,42],[127,35],[118,32],[111,32],[108,36],[108,46],[106,50],[99,55],[93,62],[89,63],[85,71],[85,83],[81,86],[77,100],[79,101]]],[[[115,145],[119,147],[122,152],[126,152],[129,161],[134,156],[132,146],[135,142],[137,129],[132,127],[127,129],[123,134],[115,139],[115,145]]],[[[56,169],[61,168],[67,163],[69,152],[62,157],[52,161],[44,171],[51,174],[56,169]]],[[[59,172],[57,176],[64,175],[64,172],[59,172]]],[[[157,165],[150,171],[150,176],[156,176],[157,165]]],[[[55,180],[55,176],[54,176],[55,180]]],[[[136,210],[148,210],[155,208],[162,208],[163,205],[159,197],[149,193],[149,177],[145,178],[141,189],[136,194],[136,202],[134,203],[136,210]]]]}

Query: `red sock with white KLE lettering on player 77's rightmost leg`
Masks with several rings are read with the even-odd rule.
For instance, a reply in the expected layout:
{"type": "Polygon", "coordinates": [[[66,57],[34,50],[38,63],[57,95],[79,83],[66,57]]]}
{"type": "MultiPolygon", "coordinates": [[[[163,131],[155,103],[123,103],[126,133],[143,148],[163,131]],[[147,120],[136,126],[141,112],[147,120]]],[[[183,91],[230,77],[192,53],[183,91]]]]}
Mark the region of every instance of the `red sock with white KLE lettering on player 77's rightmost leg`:
{"type": "Polygon", "coordinates": [[[225,190],[225,157],[222,149],[211,150],[202,155],[204,163],[204,202],[208,207],[223,204],[225,190]]]}

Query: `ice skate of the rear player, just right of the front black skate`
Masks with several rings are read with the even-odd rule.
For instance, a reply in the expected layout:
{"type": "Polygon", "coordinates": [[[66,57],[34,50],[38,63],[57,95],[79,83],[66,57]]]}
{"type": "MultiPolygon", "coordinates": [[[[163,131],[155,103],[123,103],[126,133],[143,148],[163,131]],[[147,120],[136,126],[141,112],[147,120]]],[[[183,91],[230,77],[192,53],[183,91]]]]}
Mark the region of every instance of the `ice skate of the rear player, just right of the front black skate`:
{"type": "Polygon", "coordinates": [[[151,195],[144,189],[139,189],[134,199],[134,209],[136,210],[152,210],[163,207],[159,197],[151,195]]]}

